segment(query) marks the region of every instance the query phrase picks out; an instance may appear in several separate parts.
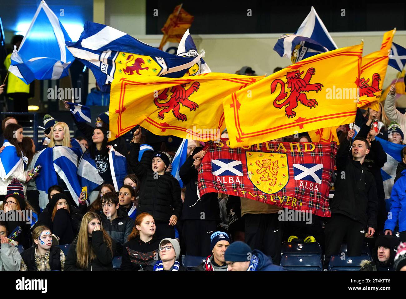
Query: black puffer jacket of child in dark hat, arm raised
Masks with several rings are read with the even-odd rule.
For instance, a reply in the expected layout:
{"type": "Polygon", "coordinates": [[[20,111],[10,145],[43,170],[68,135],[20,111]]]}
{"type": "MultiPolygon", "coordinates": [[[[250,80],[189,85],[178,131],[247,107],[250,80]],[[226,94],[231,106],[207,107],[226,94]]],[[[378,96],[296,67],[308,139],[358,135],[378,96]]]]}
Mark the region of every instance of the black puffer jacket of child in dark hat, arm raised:
{"type": "Polygon", "coordinates": [[[129,164],[141,182],[137,215],[147,212],[155,221],[169,222],[172,215],[180,219],[182,199],[179,182],[170,174],[154,178],[152,167],[146,169],[138,162],[139,143],[131,143],[129,164]]]}

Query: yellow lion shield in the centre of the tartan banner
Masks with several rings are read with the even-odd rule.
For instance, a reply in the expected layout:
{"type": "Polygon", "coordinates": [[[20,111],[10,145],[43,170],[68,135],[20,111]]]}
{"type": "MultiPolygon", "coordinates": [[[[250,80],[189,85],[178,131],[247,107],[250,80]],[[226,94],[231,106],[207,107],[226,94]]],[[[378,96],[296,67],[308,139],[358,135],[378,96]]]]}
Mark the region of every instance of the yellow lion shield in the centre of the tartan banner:
{"type": "Polygon", "coordinates": [[[246,152],[248,178],[263,193],[276,193],[289,181],[287,155],[246,152]]]}

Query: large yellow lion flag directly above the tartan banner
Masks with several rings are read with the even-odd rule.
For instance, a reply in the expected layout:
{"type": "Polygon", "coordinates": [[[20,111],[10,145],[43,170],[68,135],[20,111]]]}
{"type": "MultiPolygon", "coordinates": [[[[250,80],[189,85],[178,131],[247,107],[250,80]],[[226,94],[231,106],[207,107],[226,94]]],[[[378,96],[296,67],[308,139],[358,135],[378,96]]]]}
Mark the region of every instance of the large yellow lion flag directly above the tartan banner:
{"type": "Polygon", "coordinates": [[[231,147],[352,123],[362,48],[306,58],[227,96],[223,106],[231,147]]]}

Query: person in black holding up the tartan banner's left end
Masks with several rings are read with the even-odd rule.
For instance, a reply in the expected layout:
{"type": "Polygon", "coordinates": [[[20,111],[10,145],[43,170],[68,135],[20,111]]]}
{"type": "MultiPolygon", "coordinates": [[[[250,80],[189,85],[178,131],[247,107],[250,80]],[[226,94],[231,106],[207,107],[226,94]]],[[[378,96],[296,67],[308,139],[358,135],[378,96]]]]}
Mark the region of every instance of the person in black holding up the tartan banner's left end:
{"type": "Polygon", "coordinates": [[[179,169],[179,177],[186,186],[182,236],[186,254],[191,256],[210,254],[210,236],[220,222],[217,193],[206,193],[200,199],[197,196],[197,169],[205,154],[202,147],[196,147],[179,169]]]}

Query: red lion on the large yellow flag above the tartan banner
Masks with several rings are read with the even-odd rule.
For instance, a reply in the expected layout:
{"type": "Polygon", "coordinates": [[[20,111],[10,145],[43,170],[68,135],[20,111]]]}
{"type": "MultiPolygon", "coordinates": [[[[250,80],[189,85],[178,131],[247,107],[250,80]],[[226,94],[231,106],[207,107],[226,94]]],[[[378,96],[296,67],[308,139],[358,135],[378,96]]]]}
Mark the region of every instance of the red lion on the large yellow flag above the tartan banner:
{"type": "Polygon", "coordinates": [[[281,92],[276,97],[273,102],[275,108],[281,109],[285,107],[285,113],[287,118],[295,117],[296,112],[293,111],[294,108],[298,106],[298,102],[302,103],[304,106],[315,108],[318,103],[315,99],[308,100],[306,94],[303,92],[315,91],[316,93],[322,90],[323,85],[321,83],[314,83],[310,84],[311,77],[315,74],[315,69],[310,67],[306,75],[303,78],[300,76],[303,74],[304,71],[300,72],[299,69],[296,69],[292,72],[286,73],[287,79],[287,88],[290,88],[290,95],[285,100],[287,96],[287,92],[285,92],[285,82],[281,79],[275,79],[271,83],[271,93],[275,92],[276,86],[278,83],[281,85],[281,92]],[[280,102],[284,100],[283,102],[280,102]]]}

